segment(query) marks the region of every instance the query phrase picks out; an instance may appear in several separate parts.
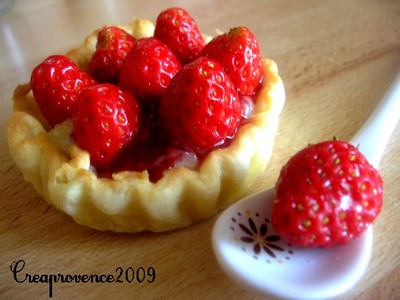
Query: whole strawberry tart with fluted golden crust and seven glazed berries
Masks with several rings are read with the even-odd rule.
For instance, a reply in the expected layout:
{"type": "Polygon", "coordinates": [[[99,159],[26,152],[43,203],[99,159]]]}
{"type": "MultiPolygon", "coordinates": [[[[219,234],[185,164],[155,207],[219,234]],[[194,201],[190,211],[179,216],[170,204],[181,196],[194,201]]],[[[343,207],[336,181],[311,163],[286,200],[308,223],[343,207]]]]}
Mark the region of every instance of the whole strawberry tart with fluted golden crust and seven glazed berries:
{"type": "Polygon", "coordinates": [[[170,8],[43,60],[15,89],[8,144],[24,178],[78,224],[166,231],[244,196],[284,101],[248,28],[207,37],[170,8]]]}

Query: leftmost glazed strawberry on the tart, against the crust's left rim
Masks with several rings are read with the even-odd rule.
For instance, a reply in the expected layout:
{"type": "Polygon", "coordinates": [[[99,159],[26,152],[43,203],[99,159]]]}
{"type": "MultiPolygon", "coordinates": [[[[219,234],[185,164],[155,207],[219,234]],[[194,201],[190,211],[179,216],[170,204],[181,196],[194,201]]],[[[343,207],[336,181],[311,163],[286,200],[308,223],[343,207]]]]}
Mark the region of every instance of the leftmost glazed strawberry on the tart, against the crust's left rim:
{"type": "Polygon", "coordinates": [[[50,126],[72,116],[78,94],[95,81],[64,55],[52,55],[33,69],[31,87],[50,126]]]}

